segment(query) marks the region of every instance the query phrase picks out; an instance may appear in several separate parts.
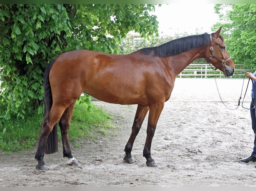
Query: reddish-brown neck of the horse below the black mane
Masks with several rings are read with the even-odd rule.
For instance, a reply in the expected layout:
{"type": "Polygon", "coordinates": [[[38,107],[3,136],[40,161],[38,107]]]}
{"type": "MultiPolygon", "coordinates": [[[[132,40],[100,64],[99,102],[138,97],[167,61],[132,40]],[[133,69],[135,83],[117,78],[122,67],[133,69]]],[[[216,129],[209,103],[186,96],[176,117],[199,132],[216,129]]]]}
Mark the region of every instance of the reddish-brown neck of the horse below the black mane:
{"type": "MultiPolygon", "coordinates": [[[[193,61],[204,58],[204,51],[206,50],[207,45],[191,49],[186,52],[179,53],[177,55],[172,55],[166,57],[169,68],[177,76],[181,71],[183,71],[189,64],[193,61]]],[[[210,56],[210,55],[209,55],[210,56]]]]}

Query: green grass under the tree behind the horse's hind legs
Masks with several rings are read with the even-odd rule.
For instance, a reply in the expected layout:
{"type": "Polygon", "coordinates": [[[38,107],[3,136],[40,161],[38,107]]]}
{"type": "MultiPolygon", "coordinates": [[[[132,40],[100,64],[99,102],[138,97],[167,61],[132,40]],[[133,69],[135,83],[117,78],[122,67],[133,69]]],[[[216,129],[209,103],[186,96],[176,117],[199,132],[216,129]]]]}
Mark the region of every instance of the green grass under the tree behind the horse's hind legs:
{"type": "MultiPolygon", "coordinates": [[[[0,106],[0,116],[5,113],[5,108],[0,106]]],[[[40,124],[43,115],[37,109],[28,110],[24,119],[14,116],[9,120],[0,118],[0,150],[2,153],[12,153],[32,148],[37,144],[40,134],[40,124]]],[[[93,111],[87,111],[87,104],[76,104],[71,119],[69,139],[76,146],[80,146],[84,138],[98,139],[102,134],[113,130],[112,116],[102,109],[94,106],[93,111]]],[[[58,139],[61,140],[58,128],[58,139]]]]}

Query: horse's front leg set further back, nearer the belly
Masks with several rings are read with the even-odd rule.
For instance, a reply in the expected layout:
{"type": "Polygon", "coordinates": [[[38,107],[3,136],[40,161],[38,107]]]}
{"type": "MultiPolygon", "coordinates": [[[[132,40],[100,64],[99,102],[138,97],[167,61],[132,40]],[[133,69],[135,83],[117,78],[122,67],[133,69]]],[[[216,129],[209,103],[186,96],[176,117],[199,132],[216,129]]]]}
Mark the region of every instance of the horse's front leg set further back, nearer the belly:
{"type": "Polygon", "coordinates": [[[142,122],[143,122],[148,110],[149,110],[149,107],[145,106],[145,105],[138,105],[138,107],[137,107],[136,114],[134,117],[134,122],[132,125],[132,133],[131,133],[130,138],[129,138],[127,144],[125,145],[125,149],[124,149],[124,151],[125,151],[124,161],[126,163],[134,163],[134,160],[131,155],[133,143],[134,143],[134,140],[135,140],[137,134],[140,131],[140,127],[142,125],[142,122]]]}

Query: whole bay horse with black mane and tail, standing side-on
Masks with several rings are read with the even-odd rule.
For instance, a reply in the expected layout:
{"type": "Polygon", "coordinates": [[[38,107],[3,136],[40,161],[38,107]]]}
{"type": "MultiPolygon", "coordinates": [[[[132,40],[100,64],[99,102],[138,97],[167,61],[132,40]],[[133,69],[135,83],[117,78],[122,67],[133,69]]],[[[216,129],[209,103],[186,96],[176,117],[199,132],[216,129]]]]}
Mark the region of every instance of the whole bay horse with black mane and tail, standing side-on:
{"type": "Polygon", "coordinates": [[[158,47],[144,48],[129,55],[112,55],[75,50],[55,57],[44,75],[44,119],[35,158],[37,169],[47,170],[44,153],[57,151],[56,123],[59,120],[63,156],[68,164],[78,165],[69,145],[70,120],[76,100],[84,92],[118,104],[138,104],[124,161],[134,163],[133,142],[149,111],[147,137],[143,149],[147,166],[157,166],[150,148],[164,102],[170,98],[176,76],[191,62],[205,58],[228,77],[235,65],[220,35],[202,34],[172,40],[158,47]]]}

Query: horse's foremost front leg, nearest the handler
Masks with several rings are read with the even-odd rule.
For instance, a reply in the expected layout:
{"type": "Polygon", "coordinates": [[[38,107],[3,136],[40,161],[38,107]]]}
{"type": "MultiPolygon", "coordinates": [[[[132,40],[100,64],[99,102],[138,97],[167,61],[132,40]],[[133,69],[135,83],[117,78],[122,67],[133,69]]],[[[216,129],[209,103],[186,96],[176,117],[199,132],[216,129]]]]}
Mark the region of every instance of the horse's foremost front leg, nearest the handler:
{"type": "Polygon", "coordinates": [[[156,103],[149,106],[149,115],[148,115],[148,125],[147,125],[147,137],[143,149],[143,157],[147,159],[146,165],[157,167],[157,163],[151,157],[151,143],[153,136],[155,134],[156,124],[159,119],[159,116],[162,112],[164,103],[156,103]]]}

